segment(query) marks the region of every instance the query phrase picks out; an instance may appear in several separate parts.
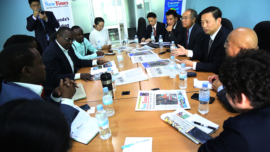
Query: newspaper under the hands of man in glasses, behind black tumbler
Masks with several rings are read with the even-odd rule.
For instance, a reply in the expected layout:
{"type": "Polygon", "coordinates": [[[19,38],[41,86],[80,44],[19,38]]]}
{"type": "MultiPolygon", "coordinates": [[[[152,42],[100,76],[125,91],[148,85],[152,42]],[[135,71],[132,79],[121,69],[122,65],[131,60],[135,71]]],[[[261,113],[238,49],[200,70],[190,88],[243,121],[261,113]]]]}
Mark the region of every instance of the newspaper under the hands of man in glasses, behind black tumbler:
{"type": "Polygon", "coordinates": [[[116,67],[116,64],[113,61],[106,63],[105,65],[100,65],[97,67],[91,67],[90,73],[92,75],[94,75],[94,80],[99,80],[100,79],[100,75],[102,73],[105,73],[108,71],[108,67],[110,67],[112,69],[112,71],[114,72],[114,74],[119,73],[118,68],[116,67]]]}

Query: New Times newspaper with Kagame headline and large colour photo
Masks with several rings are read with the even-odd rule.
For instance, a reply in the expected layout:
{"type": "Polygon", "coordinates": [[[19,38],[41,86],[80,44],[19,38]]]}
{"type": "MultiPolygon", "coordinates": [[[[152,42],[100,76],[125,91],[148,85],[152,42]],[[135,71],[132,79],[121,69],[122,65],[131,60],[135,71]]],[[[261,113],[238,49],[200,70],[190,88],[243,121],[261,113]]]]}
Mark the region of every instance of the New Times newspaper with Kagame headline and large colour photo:
{"type": "Polygon", "coordinates": [[[139,90],[135,111],[190,109],[185,90],[139,90]]]}

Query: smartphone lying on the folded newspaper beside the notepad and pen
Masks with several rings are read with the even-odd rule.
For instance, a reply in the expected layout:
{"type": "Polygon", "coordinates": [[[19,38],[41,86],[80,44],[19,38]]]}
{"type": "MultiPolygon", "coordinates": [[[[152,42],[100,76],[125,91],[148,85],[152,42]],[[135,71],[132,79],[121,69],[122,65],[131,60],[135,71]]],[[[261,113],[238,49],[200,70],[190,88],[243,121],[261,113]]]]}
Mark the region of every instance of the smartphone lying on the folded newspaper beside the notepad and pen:
{"type": "Polygon", "coordinates": [[[207,133],[201,131],[195,126],[192,126],[188,130],[186,130],[186,133],[189,134],[191,137],[195,138],[200,143],[204,144],[206,141],[210,139],[214,139],[213,137],[209,136],[207,133]]]}

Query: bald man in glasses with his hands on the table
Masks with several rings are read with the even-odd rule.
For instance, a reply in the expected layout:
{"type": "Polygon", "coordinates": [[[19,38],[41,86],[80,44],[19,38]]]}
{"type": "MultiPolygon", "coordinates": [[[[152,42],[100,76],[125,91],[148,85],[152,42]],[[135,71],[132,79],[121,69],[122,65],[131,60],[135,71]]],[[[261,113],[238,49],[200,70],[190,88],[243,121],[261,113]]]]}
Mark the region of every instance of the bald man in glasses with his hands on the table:
{"type": "MultiPolygon", "coordinates": [[[[236,56],[240,50],[245,49],[259,49],[258,37],[250,28],[236,28],[234,29],[227,40],[224,43],[226,55],[230,57],[236,56]]],[[[222,83],[220,82],[218,75],[208,76],[208,81],[212,83],[212,88],[217,92],[216,96],[221,100],[224,106],[233,113],[238,113],[234,108],[229,104],[226,97],[226,90],[223,88],[222,83]]]]}

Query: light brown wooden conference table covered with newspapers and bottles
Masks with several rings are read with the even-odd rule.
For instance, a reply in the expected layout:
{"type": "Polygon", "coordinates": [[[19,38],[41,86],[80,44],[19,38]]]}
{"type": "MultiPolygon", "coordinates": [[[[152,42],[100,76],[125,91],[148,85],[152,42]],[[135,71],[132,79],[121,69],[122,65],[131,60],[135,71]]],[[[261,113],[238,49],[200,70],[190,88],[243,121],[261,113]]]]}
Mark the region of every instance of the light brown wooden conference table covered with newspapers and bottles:
{"type": "MultiPolygon", "coordinates": [[[[134,44],[129,45],[134,47],[134,44]]],[[[141,47],[141,46],[139,46],[141,47]]],[[[165,51],[163,49],[156,48],[153,51],[159,53],[165,51]]],[[[107,53],[107,50],[103,50],[107,53]]],[[[114,51],[117,53],[117,51],[114,51]]],[[[119,72],[128,70],[131,68],[142,67],[140,63],[133,64],[131,59],[126,54],[126,51],[122,52],[124,67],[118,68],[119,72]]],[[[159,55],[162,59],[167,59],[170,54],[167,52],[165,54],[159,55]]],[[[114,60],[117,65],[117,57],[115,55],[107,55],[105,58],[109,61],[114,60]]],[[[187,57],[177,57],[177,59],[189,59],[187,57]]],[[[144,73],[146,71],[142,68],[144,73]]],[[[81,68],[80,72],[90,72],[90,67],[81,68]]],[[[195,72],[190,69],[188,72],[195,72]]],[[[193,93],[199,93],[199,89],[194,88],[193,79],[198,78],[198,80],[207,80],[207,77],[212,75],[211,72],[196,72],[196,77],[187,78],[187,89],[186,94],[188,101],[190,103],[191,109],[187,110],[192,114],[198,112],[199,102],[197,100],[191,99],[193,93]]],[[[102,104],[102,85],[100,80],[88,81],[76,80],[77,83],[82,83],[87,94],[87,98],[75,102],[75,105],[82,106],[88,104],[90,107],[102,104]]],[[[171,127],[165,121],[163,121],[160,116],[167,112],[173,111],[135,111],[135,105],[138,96],[138,90],[151,90],[153,88],[160,89],[179,89],[179,78],[170,79],[169,76],[150,78],[149,80],[136,82],[127,85],[120,85],[116,87],[114,92],[114,110],[115,114],[109,117],[109,126],[112,132],[112,136],[107,140],[102,140],[99,135],[94,137],[87,145],[79,143],[77,141],[72,141],[72,152],[81,151],[122,151],[121,146],[124,145],[126,137],[153,137],[152,151],[197,151],[199,145],[195,144],[193,141],[188,139],[182,133],[178,132],[176,129],[171,127]],[[122,91],[130,91],[130,95],[121,95],[122,91]]],[[[211,136],[216,137],[223,131],[223,122],[229,117],[233,117],[237,114],[230,113],[221,101],[216,97],[216,92],[210,90],[210,96],[215,97],[216,100],[212,104],[209,104],[208,114],[201,115],[204,118],[218,124],[220,128],[215,131],[211,136]]],[[[96,111],[96,109],[95,109],[96,111]]],[[[90,114],[91,117],[95,117],[95,114],[90,114]]]]}

